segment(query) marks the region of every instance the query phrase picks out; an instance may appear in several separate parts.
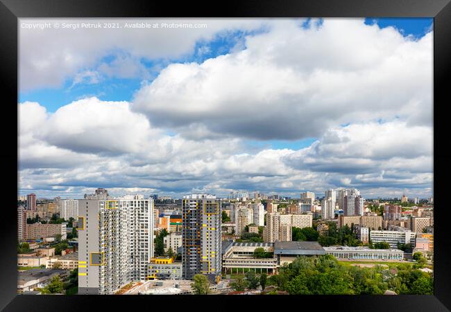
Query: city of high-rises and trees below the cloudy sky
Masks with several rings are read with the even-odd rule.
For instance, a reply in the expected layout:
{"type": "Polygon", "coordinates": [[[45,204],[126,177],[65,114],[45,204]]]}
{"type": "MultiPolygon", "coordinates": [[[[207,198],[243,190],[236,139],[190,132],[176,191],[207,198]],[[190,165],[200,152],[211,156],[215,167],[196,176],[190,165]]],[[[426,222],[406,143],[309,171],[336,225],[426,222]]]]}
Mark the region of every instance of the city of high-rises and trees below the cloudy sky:
{"type": "Polygon", "coordinates": [[[433,198],[341,188],[171,199],[98,188],[83,199],[19,196],[17,218],[18,293],[433,292],[433,198]]]}

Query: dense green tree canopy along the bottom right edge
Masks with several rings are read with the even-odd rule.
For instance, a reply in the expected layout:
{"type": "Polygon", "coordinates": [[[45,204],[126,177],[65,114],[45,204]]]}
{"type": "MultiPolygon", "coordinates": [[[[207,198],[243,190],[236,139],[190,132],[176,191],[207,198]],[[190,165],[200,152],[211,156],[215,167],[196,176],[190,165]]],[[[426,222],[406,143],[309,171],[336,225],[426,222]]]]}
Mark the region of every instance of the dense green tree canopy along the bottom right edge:
{"type": "Polygon", "coordinates": [[[344,266],[332,255],[301,256],[268,280],[278,291],[296,295],[381,295],[387,289],[398,294],[433,293],[431,274],[411,264],[397,267],[393,272],[382,266],[344,266]]]}

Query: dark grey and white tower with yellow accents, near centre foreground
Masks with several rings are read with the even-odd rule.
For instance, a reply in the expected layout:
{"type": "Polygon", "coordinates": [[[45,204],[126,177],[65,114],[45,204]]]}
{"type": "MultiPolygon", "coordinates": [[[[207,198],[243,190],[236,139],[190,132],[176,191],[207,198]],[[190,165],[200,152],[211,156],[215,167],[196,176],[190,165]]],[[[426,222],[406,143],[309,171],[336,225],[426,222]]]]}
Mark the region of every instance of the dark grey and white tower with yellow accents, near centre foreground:
{"type": "Polygon", "coordinates": [[[183,277],[207,275],[221,279],[221,201],[210,194],[191,194],[182,200],[183,277]]]}

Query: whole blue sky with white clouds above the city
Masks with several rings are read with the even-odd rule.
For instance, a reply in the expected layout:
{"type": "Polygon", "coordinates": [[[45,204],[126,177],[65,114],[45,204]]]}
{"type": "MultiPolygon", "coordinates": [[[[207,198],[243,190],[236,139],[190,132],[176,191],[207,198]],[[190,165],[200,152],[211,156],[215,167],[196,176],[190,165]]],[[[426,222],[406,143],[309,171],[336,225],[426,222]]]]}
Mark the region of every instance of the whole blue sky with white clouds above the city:
{"type": "Polygon", "coordinates": [[[87,21],[19,21],[19,194],[432,196],[432,19],[87,21]]]}

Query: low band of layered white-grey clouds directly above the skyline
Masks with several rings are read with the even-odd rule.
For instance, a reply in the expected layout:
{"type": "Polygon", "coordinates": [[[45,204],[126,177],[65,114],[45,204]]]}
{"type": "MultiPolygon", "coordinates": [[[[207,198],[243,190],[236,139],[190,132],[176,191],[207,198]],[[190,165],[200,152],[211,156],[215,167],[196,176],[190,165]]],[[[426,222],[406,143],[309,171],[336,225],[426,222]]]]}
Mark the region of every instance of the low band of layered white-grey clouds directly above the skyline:
{"type": "Polygon", "coordinates": [[[247,189],[296,196],[300,190],[339,186],[408,187],[423,194],[432,185],[430,128],[406,122],[338,127],[305,149],[249,154],[238,139],[187,140],[164,134],[130,111],[127,102],[87,98],[53,114],[26,102],[19,104],[19,116],[19,183],[44,194],[72,196],[96,186],[115,194],[247,189]],[[95,131],[99,127],[92,122],[105,121],[105,131],[95,131]]]}

